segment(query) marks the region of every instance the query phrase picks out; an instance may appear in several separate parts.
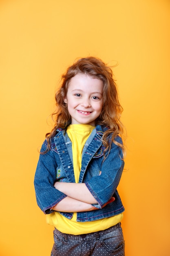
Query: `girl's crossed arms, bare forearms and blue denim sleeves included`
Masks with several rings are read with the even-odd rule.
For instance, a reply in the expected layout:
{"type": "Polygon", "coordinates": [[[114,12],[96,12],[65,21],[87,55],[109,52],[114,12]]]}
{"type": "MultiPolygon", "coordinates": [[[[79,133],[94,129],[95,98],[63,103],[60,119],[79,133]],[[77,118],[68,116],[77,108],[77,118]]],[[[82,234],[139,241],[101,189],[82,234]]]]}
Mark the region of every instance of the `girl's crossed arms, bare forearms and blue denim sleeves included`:
{"type": "MultiPolygon", "coordinates": [[[[42,151],[45,149],[44,145],[42,151]]],[[[55,182],[58,166],[53,152],[40,155],[34,179],[40,209],[44,213],[51,213],[51,209],[72,213],[101,209],[113,202],[112,196],[124,167],[119,154],[118,146],[113,144],[108,158],[102,163],[101,175],[93,176],[85,183],[55,182]]]]}

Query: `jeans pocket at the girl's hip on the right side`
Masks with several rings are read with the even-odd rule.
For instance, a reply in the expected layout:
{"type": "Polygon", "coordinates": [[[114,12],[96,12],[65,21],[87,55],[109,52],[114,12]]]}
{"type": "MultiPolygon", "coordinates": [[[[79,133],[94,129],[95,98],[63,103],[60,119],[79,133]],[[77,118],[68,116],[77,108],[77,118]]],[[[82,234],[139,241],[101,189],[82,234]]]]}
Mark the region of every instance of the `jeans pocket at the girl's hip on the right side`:
{"type": "Polygon", "coordinates": [[[103,235],[100,239],[102,246],[108,252],[117,253],[124,249],[124,236],[121,227],[103,235]]]}

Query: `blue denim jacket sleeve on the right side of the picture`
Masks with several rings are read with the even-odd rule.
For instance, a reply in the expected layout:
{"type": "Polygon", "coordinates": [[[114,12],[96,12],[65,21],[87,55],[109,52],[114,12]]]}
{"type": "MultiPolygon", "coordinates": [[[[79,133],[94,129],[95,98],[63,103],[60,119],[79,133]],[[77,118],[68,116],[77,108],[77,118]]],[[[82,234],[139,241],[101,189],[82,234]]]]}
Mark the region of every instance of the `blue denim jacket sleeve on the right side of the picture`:
{"type": "Polygon", "coordinates": [[[98,204],[93,204],[93,206],[101,209],[113,196],[119,184],[123,169],[124,160],[122,150],[119,146],[112,143],[110,152],[102,163],[101,175],[94,176],[91,180],[85,182],[88,190],[98,202],[98,204]]]}

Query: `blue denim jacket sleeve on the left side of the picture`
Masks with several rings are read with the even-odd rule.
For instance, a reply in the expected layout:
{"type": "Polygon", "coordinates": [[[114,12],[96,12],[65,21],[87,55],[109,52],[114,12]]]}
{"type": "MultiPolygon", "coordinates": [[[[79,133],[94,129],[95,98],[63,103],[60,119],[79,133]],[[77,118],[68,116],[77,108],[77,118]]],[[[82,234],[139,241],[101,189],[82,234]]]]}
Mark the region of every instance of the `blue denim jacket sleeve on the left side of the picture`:
{"type": "MultiPolygon", "coordinates": [[[[43,144],[41,152],[46,150],[43,144]]],[[[53,151],[40,154],[38,165],[35,172],[34,186],[38,206],[44,213],[52,213],[51,208],[59,203],[66,195],[53,186],[56,179],[57,163],[53,151]]]]}

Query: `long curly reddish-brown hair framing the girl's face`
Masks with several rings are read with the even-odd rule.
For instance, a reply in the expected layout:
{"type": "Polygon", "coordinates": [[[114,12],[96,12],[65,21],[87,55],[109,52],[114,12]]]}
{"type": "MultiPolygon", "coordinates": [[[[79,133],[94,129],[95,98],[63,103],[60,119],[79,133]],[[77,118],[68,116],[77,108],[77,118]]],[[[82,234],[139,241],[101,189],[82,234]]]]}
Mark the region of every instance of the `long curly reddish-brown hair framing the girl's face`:
{"type": "Polygon", "coordinates": [[[71,124],[71,116],[64,103],[64,98],[68,91],[68,86],[71,78],[76,74],[88,74],[94,78],[100,79],[104,83],[103,89],[103,106],[102,112],[99,117],[95,120],[95,124],[104,125],[108,127],[108,130],[104,132],[102,137],[103,144],[106,150],[110,150],[110,141],[120,146],[125,153],[124,145],[119,144],[115,137],[119,135],[122,138],[124,133],[124,126],[120,121],[121,107],[118,99],[117,85],[113,79],[113,72],[101,59],[96,57],[80,58],[78,61],[73,63],[66,73],[62,75],[62,84],[59,90],[55,94],[56,110],[52,114],[53,120],[55,121],[54,128],[51,132],[46,134],[46,140],[48,142],[48,148],[50,148],[51,138],[55,136],[57,128],[66,128],[71,124]],[[54,118],[55,116],[55,118],[54,118]],[[111,136],[111,140],[110,140],[111,136]]]}

